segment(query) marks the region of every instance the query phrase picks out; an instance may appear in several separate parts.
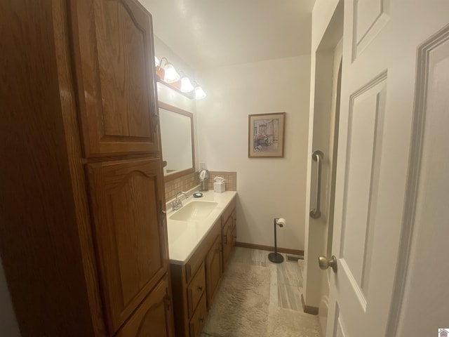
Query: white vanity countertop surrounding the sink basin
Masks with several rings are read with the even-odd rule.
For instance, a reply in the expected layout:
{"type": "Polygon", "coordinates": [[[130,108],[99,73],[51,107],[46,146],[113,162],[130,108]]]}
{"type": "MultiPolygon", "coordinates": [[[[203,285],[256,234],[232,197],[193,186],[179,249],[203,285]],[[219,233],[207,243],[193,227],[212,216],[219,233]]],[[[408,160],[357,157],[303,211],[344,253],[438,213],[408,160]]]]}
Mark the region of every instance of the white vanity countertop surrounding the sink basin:
{"type": "Polygon", "coordinates": [[[214,201],[217,203],[215,209],[201,221],[177,221],[170,219],[176,211],[167,205],[167,227],[168,227],[168,253],[170,263],[184,265],[189,260],[195,249],[201,244],[203,238],[210,231],[212,225],[225,211],[229,202],[236,196],[235,191],[226,191],[217,193],[213,191],[202,192],[203,197],[194,198],[189,195],[189,199],[182,199],[182,207],[185,207],[192,201],[214,201]]]}

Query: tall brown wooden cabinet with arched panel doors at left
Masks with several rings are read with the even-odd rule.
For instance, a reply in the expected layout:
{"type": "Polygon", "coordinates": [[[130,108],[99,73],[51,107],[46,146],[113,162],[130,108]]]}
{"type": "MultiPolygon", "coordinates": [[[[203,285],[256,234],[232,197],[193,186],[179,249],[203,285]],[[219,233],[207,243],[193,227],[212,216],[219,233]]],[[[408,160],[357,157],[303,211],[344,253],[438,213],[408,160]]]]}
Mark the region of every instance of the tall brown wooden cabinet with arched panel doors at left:
{"type": "Polygon", "coordinates": [[[22,336],[172,337],[152,17],[9,2],[0,253],[22,336]]]}

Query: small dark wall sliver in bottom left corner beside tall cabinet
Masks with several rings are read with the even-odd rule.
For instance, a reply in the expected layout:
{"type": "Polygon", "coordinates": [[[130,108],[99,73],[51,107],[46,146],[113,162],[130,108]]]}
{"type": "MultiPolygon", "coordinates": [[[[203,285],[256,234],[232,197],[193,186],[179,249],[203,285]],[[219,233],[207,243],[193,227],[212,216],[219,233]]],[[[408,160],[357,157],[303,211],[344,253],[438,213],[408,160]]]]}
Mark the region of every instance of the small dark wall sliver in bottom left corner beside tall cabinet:
{"type": "Polygon", "coordinates": [[[0,259],[0,335],[2,337],[19,337],[20,331],[15,319],[11,295],[6,284],[3,265],[0,259]]]}

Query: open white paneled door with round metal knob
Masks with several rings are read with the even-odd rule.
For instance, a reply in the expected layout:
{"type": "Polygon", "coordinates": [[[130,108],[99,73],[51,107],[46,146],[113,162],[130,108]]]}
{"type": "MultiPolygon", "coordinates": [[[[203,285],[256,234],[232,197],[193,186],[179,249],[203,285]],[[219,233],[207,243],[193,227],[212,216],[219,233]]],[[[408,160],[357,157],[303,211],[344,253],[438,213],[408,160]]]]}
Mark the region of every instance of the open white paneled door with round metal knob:
{"type": "MultiPolygon", "coordinates": [[[[440,245],[445,261],[438,265],[429,256],[422,265],[448,284],[448,216],[426,202],[438,201],[445,209],[449,204],[448,25],[449,1],[344,2],[337,272],[328,269],[328,337],[406,336],[401,322],[414,315],[407,289],[414,286],[416,261],[427,254],[416,248],[420,238],[440,245]],[[445,270],[438,275],[441,265],[445,270]]],[[[448,293],[442,286],[423,286],[418,292],[448,293]]],[[[422,309],[416,305],[414,310],[422,309]]],[[[415,328],[423,324],[416,321],[415,328]]],[[[436,336],[437,328],[425,336],[436,336]]],[[[409,336],[424,336],[411,331],[409,336]]]]}

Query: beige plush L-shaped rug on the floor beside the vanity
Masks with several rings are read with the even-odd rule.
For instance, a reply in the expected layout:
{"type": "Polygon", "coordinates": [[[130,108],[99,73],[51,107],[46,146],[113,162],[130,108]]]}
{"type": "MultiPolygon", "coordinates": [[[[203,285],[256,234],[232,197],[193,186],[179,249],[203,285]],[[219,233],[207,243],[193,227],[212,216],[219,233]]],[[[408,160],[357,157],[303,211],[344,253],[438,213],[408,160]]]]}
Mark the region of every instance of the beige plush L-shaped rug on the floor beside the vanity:
{"type": "Polygon", "coordinates": [[[269,305],[271,270],[231,263],[201,337],[320,337],[317,316],[269,305]]]}

